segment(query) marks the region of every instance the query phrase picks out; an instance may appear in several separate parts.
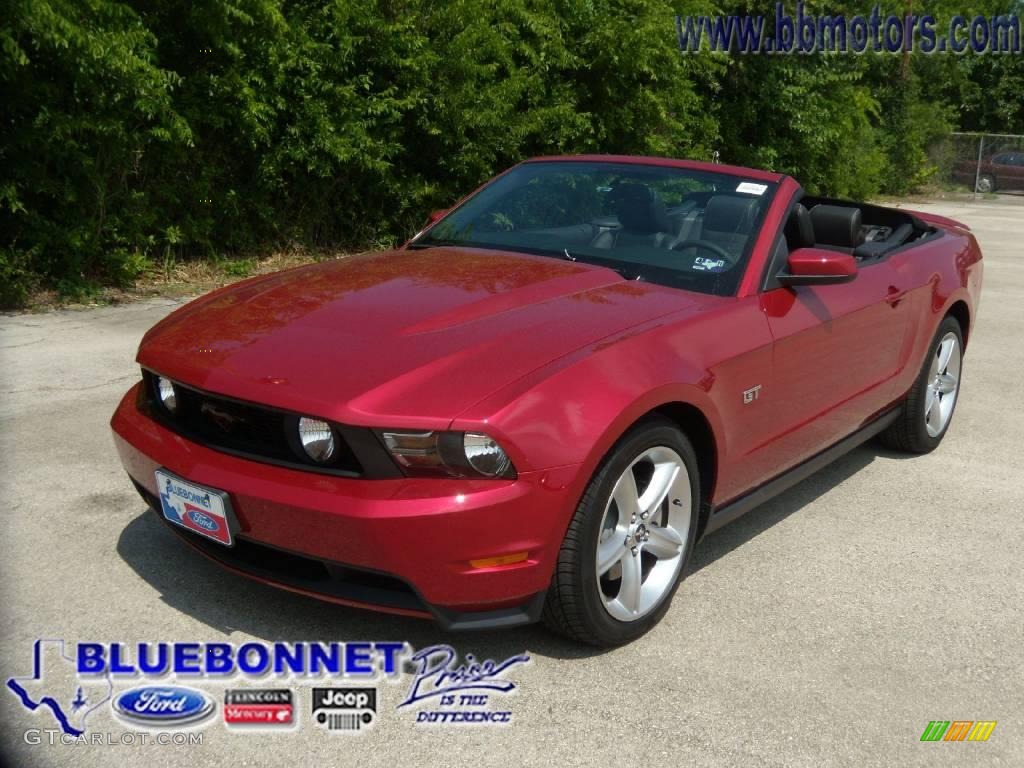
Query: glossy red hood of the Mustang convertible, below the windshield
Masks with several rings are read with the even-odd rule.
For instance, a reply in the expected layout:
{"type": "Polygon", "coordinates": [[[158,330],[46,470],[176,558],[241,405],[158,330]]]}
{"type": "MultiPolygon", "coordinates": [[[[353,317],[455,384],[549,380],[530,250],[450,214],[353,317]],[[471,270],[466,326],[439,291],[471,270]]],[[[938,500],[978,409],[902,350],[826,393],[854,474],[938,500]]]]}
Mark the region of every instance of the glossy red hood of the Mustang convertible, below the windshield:
{"type": "Polygon", "coordinates": [[[342,423],[438,428],[572,351],[701,304],[581,262],[399,250],[220,289],[154,327],[138,361],[342,423]]]}

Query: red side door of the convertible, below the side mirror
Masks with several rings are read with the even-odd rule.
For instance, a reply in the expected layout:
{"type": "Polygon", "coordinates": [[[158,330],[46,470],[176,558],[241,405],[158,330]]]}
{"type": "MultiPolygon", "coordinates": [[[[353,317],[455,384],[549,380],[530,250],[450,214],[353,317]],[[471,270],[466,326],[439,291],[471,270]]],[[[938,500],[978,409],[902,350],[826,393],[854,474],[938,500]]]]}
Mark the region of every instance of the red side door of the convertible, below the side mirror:
{"type": "MultiPolygon", "coordinates": [[[[850,283],[769,287],[773,338],[771,453],[792,466],[856,431],[896,393],[907,329],[907,278],[888,260],[850,283]]],[[[783,466],[779,467],[784,468],[783,466]]]]}

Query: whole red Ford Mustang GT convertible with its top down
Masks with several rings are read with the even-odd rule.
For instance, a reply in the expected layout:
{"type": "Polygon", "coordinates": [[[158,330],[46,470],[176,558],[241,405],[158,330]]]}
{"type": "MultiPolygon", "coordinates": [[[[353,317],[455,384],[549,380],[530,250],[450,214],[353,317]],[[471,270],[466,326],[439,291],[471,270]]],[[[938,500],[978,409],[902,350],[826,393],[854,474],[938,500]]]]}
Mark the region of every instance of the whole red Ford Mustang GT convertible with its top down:
{"type": "Polygon", "coordinates": [[[540,158],[395,251],[173,312],[115,441],[231,570],[615,645],[709,531],[873,435],[938,445],[981,280],[939,216],[745,168],[540,158]]]}

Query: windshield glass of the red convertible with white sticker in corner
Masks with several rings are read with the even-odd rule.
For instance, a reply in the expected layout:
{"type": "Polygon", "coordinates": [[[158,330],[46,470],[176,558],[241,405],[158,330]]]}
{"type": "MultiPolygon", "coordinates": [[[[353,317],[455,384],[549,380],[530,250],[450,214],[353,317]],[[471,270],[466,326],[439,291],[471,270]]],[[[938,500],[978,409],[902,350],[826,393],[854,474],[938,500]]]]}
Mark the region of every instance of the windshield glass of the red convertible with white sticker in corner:
{"type": "Polygon", "coordinates": [[[541,254],[728,296],[775,188],[714,171],[530,162],[484,186],[410,247],[541,254]]]}

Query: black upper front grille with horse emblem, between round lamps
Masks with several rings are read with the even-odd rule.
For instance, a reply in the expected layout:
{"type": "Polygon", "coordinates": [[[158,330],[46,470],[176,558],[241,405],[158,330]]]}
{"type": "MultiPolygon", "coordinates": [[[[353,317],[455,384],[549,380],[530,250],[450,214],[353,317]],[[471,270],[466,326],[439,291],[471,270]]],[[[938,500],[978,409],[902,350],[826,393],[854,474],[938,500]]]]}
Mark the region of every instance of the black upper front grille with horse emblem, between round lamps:
{"type": "MultiPolygon", "coordinates": [[[[177,408],[164,408],[157,393],[156,375],[144,371],[145,402],[150,416],[194,442],[258,461],[301,467],[355,477],[364,466],[352,451],[354,437],[360,445],[375,447],[369,430],[333,425],[335,452],[319,464],[302,450],[298,440],[298,414],[204,392],[174,382],[177,408]],[[370,439],[368,439],[370,438],[370,439]]],[[[383,451],[383,449],[381,449],[383,451]]]]}

